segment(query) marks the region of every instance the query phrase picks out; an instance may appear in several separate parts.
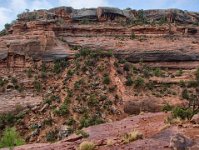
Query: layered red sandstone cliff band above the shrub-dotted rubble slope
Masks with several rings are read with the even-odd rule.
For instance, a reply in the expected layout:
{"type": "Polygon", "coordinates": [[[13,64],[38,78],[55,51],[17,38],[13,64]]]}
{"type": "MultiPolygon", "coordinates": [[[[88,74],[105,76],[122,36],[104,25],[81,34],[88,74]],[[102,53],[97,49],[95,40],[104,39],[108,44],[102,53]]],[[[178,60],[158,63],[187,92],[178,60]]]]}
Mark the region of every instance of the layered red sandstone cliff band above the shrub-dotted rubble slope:
{"type": "Polygon", "coordinates": [[[175,9],[59,7],[26,12],[0,38],[1,66],[24,66],[27,58],[70,58],[74,46],[113,50],[132,62],[198,61],[198,27],[193,26],[198,22],[198,13],[175,9]]]}

